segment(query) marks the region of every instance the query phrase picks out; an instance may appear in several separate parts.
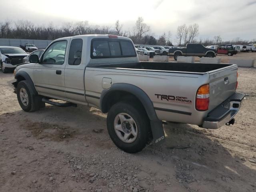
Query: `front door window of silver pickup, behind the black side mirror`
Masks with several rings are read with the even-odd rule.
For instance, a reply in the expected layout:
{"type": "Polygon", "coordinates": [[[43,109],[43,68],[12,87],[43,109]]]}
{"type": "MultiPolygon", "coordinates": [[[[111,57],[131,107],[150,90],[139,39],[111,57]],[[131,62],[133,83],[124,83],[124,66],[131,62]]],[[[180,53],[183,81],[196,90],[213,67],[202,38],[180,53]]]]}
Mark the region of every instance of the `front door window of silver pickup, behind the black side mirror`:
{"type": "Polygon", "coordinates": [[[50,45],[50,47],[44,52],[42,58],[42,64],[64,64],[64,58],[66,54],[67,41],[58,41],[50,45]]]}

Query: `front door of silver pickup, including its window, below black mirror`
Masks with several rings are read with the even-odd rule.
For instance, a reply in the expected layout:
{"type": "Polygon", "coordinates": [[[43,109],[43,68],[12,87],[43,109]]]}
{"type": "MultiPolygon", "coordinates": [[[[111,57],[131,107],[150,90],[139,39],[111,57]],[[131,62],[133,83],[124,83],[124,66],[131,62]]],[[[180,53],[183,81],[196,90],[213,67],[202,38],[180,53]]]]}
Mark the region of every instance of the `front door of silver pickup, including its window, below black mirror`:
{"type": "Polygon", "coordinates": [[[53,42],[42,54],[34,68],[34,84],[39,94],[66,98],[64,69],[67,63],[66,47],[70,38],[53,42]]]}

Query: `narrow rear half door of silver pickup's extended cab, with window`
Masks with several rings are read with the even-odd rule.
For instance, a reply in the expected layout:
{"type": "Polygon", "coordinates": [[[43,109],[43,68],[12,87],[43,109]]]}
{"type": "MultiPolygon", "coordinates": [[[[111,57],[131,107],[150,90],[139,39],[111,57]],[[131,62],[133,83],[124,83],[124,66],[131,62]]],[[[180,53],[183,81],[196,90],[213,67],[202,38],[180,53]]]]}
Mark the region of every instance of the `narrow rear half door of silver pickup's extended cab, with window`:
{"type": "MultiPolygon", "coordinates": [[[[83,40],[72,39],[68,51],[68,62],[65,67],[66,97],[70,102],[86,102],[84,95],[85,53],[82,53],[83,40]]],[[[84,46],[85,47],[85,46],[84,46]]],[[[86,48],[86,47],[85,47],[86,48]]]]}

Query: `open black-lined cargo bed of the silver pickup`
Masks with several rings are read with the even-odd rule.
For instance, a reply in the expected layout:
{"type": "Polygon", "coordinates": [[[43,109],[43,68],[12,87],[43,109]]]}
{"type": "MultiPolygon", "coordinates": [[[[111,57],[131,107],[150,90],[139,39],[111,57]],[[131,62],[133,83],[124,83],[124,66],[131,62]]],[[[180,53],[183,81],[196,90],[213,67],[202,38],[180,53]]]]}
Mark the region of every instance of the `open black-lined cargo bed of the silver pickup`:
{"type": "Polygon", "coordinates": [[[134,70],[153,70],[153,71],[174,71],[174,72],[195,72],[206,73],[217,70],[232,64],[203,64],[203,63],[172,63],[172,62],[137,62],[137,63],[123,63],[123,64],[100,64],[100,68],[122,68],[134,70]]]}

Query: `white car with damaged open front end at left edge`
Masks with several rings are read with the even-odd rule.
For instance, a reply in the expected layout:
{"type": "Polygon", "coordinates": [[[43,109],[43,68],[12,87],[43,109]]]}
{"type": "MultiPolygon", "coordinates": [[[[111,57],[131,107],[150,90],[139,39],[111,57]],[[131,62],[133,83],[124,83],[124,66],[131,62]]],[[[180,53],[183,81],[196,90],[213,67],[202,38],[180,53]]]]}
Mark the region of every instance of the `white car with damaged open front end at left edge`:
{"type": "Polygon", "coordinates": [[[0,65],[3,73],[14,70],[28,54],[19,47],[0,46],[0,65]]]}

